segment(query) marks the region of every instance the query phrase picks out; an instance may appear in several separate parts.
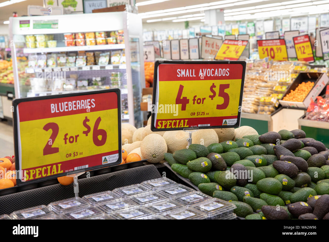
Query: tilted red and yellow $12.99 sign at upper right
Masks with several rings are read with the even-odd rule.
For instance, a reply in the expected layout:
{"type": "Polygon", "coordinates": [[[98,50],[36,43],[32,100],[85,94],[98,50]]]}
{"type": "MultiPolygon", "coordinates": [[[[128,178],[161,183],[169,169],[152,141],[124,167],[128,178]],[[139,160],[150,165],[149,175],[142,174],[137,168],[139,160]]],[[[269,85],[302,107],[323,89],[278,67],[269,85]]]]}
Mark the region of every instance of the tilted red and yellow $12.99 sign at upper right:
{"type": "Polygon", "coordinates": [[[314,62],[310,37],[308,35],[293,37],[298,61],[314,62]]]}

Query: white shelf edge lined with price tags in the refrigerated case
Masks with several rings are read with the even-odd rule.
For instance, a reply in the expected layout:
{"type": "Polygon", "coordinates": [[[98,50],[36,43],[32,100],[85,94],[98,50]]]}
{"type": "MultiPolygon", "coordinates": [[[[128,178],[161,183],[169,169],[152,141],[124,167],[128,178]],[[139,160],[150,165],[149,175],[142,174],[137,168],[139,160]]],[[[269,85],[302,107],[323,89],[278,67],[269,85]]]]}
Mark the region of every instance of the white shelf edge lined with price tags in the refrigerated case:
{"type": "Polygon", "coordinates": [[[114,70],[126,69],[126,64],[110,64],[105,66],[93,65],[83,67],[45,67],[45,68],[25,68],[25,73],[37,73],[47,71],[82,71],[82,70],[114,70]]]}

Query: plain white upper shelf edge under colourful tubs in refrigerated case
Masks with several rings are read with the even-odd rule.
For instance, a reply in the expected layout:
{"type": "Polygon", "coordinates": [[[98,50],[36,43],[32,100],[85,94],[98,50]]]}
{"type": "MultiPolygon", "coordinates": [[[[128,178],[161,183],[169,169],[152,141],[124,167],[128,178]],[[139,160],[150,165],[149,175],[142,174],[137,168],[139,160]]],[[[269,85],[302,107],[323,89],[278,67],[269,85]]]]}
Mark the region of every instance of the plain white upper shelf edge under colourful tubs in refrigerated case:
{"type": "Polygon", "coordinates": [[[49,52],[67,52],[67,51],[88,51],[88,50],[118,50],[124,49],[125,44],[101,44],[101,45],[83,45],[83,46],[62,46],[47,48],[24,48],[24,54],[49,53],[49,52]]]}

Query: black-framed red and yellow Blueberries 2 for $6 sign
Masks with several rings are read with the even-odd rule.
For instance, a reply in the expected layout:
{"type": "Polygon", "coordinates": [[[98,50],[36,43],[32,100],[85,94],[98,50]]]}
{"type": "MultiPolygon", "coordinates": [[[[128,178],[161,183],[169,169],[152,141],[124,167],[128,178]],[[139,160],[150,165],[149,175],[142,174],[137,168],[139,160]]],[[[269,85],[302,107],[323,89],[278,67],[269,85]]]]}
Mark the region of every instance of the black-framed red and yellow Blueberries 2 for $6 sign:
{"type": "Polygon", "coordinates": [[[120,101],[119,89],[15,99],[17,184],[121,163],[120,101]]]}

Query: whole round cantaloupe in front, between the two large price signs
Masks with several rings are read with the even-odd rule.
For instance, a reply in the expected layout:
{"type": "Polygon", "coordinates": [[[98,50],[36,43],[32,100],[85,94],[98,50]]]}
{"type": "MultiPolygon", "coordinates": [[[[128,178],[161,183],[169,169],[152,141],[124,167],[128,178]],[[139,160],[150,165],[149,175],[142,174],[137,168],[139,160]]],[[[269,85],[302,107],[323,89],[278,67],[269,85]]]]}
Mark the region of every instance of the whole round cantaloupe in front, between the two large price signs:
{"type": "Polygon", "coordinates": [[[148,162],[158,163],[164,159],[164,153],[167,152],[167,144],[161,135],[149,134],[142,140],[140,152],[148,162]]]}

